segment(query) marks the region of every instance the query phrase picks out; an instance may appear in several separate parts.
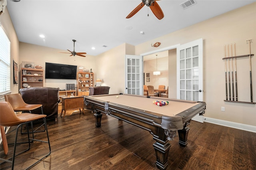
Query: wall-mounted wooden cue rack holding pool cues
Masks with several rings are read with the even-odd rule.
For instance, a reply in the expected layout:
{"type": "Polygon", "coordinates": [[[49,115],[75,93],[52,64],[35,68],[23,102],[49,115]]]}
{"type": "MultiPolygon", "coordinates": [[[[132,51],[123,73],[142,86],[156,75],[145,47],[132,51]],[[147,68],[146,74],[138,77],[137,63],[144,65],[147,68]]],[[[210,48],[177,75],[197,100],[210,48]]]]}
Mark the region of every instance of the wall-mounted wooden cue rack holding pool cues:
{"type": "Polygon", "coordinates": [[[236,56],[236,44],[234,43],[234,55],[232,56],[232,43],[230,44],[231,49],[231,56],[229,54],[229,44],[228,44],[228,57],[226,57],[226,45],[224,46],[225,50],[225,57],[222,58],[222,60],[225,60],[225,78],[226,78],[226,100],[227,102],[236,102],[236,103],[249,103],[249,104],[256,104],[253,102],[252,99],[252,69],[251,69],[251,57],[254,56],[254,54],[250,53],[250,43],[252,43],[252,40],[246,41],[249,44],[249,54],[248,55],[239,55],[236,56]],[[236,76],[236,58],[239,57],[249,57],[249,63],[250,63],[250,102],[247,101],[238,101],[238,88],[237,88],[237,76],[236,76]],[[233,68],[233,59],[235,62],[235,68],[233,68]],[[231,66],[230,66],[230,60],[231,60],[231,66]],[[228,65],[227,65],[228,62],[228,65]],[[231,71],[230,71],[231,70],[231,71]],[[231,78],[230,78],[231,77],[231,78]],[[234,80],[235,77],[235,80],[234,80]],[[235,87],[234,87],[235,85],[235,87]],[[232,86],[232,88],[231,88],[232,86]],[[231,91],[232,89],[232,91],[231,91]]]}

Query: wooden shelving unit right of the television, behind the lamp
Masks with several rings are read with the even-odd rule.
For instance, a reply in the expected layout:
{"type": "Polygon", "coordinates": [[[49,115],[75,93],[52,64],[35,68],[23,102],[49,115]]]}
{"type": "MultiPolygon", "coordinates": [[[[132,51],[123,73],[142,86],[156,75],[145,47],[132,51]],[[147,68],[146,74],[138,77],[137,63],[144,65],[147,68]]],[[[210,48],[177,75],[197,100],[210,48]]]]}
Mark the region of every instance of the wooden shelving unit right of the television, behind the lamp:
{"type": "Polygon", "coordinates": [[[77,73],[77,94],[89,95],[89,87],[94,87],[94,73],[78,72],[77,73]]]}

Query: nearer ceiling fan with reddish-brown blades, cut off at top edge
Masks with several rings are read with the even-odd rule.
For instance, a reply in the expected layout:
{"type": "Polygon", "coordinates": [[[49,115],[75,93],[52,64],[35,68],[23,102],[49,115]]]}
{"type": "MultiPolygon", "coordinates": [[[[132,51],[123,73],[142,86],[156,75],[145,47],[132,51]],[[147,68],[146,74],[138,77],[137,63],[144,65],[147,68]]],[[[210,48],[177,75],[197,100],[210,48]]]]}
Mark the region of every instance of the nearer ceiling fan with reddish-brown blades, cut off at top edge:
{"type": "Polygon", "coordinates": [[[158,3],[156,1],[157,0],[142,0],[142,2],[136,8],[134,8],[134,10],[128,16],[126,16],[126,18],[131,18],[144,5],[146,5],[146,6],[150,7],[153,14],[156,16],[156,18],[158,18],[158,20],[161,20],[162,18],[164,18],[164,13],[163,13],[162,9],[160,8],[160,6],[158,5],[158,3]]]}

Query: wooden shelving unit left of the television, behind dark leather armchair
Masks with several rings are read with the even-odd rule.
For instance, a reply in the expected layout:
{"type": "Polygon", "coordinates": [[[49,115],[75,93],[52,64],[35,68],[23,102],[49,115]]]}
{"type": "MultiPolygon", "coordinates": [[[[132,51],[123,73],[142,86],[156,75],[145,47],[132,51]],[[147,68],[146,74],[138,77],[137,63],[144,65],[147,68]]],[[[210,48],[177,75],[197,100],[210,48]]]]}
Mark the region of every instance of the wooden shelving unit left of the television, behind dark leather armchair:
{"type": "Polygon", "coordinates": [[[21,68],[21,88],[27,86],[43,87],[44,86],[44,70],[21,68]]]}

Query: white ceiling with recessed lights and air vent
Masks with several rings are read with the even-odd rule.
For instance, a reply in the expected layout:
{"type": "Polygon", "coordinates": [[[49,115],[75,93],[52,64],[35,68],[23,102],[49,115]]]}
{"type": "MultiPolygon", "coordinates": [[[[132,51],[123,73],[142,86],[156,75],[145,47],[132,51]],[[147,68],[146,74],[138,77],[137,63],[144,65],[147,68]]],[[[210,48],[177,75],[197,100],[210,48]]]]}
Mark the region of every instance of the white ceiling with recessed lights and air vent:
{"type": "Polygon", "coordinates": [[[185,10],[180,6],[185,0],[157,1],[164,12],[162,20],[158,20],[147,6],[126,19],[141,0],[8,0],[7,8],[20,42],[66,52],[66,49],[73,51],[74,39],[77,40],[76,52],[98,55],[120,44],[138,45],[256,2],[195,1],[194,6],[185,10]],[[40,38],[40,34],[44,34],[45,38],[40,38]]]}

